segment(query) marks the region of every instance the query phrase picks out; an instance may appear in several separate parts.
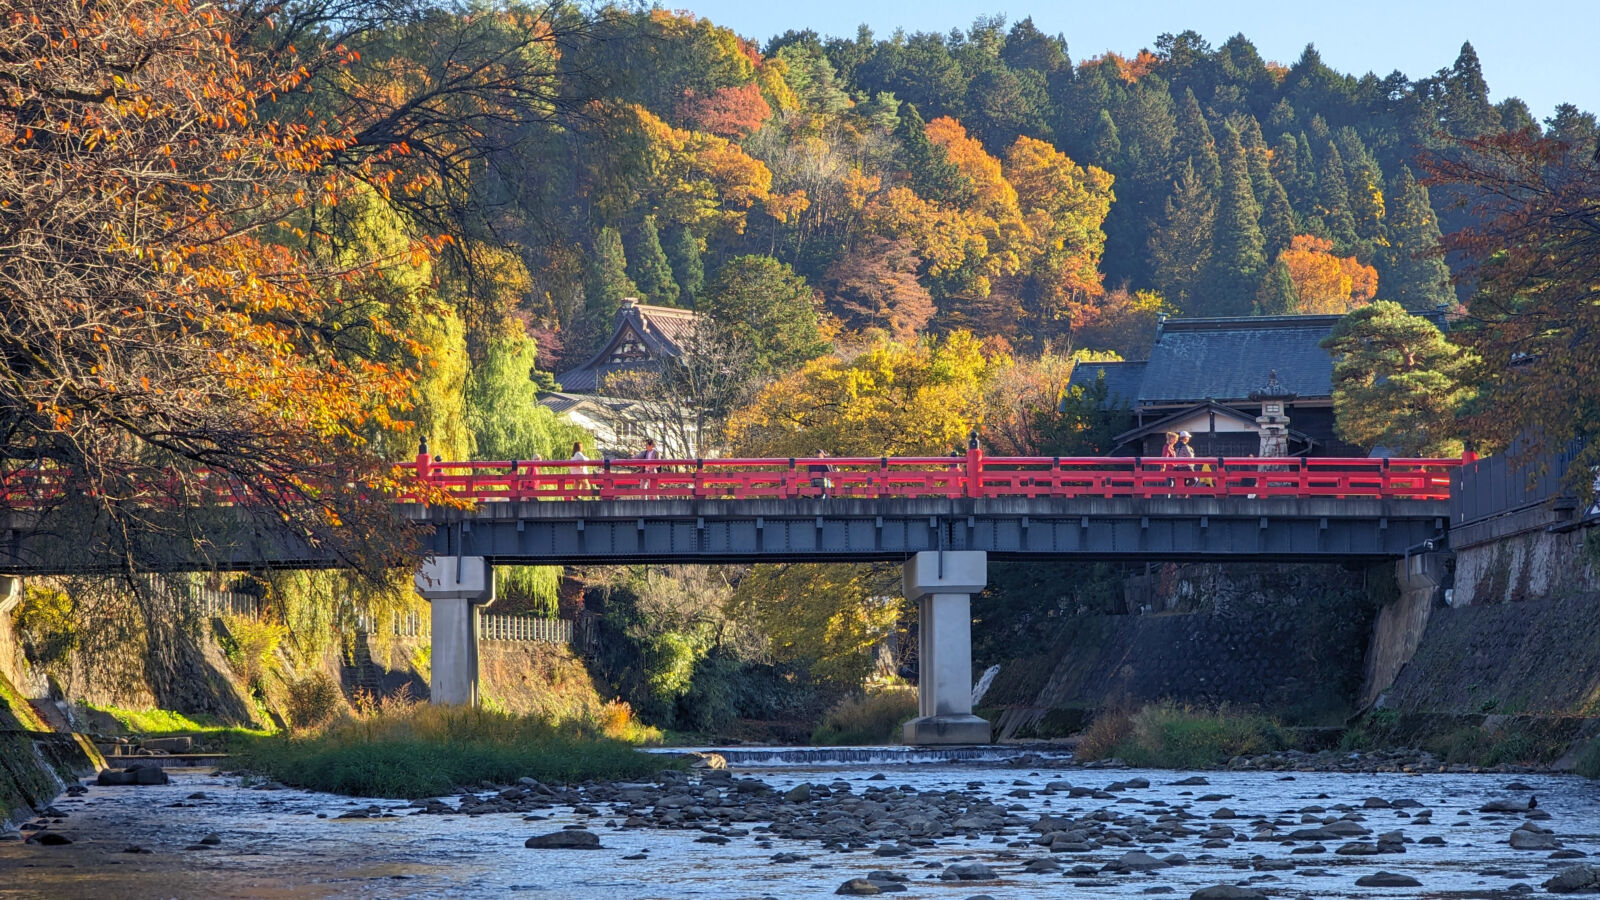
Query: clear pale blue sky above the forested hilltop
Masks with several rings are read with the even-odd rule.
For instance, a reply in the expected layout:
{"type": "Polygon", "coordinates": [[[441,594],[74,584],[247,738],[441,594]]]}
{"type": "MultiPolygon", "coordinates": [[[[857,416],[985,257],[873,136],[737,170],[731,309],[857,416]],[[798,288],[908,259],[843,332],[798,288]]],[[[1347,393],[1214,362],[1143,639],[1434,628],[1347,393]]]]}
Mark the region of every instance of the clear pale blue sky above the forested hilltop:
{"type": "Polygon", "coordinates": [[[1597,0],[1096,0],[1093,3],[1008,0],[664,0],[728,26],[744,37],[766,38],[789,29],[854,35],[867,24],[878,37],[896,27],[949,32],[976,16],[1027,16],[1046,34],[1061,34],[1074,59],[1107,50],[1131,54],[1154,46],[1162,32],[1197,30],[1211,45],[1243,32],[1266,59],[1293,62],[1307,43],[1323,61],[1355,75],[1395,69],[1411,78],[1456,59],[1470,40],[1483,62],[1490,99],[1518,96],[1536,119],[1558,102],[1600,112],[1600,2],[1597,0]]]}

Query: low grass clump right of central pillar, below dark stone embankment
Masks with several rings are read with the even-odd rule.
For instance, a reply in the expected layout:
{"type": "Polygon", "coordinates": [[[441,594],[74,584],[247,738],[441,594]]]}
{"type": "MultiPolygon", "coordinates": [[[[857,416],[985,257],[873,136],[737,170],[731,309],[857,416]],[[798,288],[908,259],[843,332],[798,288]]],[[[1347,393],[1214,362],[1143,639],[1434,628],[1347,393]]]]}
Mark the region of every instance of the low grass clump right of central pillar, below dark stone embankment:
{"type": "Polygon", "coordinates": [[[1117,757],[1157,769],[1213,769],[1234,756],[1272,753],[1290,745],[1283,729],[1266,716],[1157,703],[1136,713],[1102,711],[1074,756],[1082,761],[1117,757]]]}

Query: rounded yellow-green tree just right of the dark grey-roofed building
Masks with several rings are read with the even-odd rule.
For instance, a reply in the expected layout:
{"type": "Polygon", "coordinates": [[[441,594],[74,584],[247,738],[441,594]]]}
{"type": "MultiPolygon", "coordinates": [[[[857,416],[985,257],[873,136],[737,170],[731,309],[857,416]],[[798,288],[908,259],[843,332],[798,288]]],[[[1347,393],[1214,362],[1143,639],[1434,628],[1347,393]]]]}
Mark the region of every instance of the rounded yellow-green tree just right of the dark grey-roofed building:
{"type": "Polygon", "coordinates": [[[1322,341],[1333,354],[1339,437],[1397,456],[1461,453],[1461,405],[1469,359],[1438,327],[1392,301],[1363,306],[1322,341]]]}

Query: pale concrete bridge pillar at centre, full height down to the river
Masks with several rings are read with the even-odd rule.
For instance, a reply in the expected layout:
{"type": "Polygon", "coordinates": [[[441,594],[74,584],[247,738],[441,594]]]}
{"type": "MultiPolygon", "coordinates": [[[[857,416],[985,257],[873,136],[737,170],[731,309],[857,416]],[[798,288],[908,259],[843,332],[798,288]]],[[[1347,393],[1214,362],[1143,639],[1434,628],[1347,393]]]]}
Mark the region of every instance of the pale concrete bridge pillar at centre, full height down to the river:
{"type": "Polygon", "coordinates": [[[918,609],[917,717],[906,722],[906,743],[989,743],[989,722],[973,716],[973,594],[987,583],[984,551],[906,560],[906,599],[918,609]]]}

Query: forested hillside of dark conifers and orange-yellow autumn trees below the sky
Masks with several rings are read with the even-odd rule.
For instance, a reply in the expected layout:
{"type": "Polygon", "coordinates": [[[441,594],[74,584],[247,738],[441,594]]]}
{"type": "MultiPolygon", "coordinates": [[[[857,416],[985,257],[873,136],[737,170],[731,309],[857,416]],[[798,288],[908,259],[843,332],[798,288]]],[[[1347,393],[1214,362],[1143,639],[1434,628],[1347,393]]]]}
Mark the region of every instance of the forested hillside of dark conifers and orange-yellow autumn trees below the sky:
{"type": "Polygon", "coordinates": [[[560,235],[525,247],[531,312],[570,360],[621,296],[691,304],[758,256],[846,335],[966,327],[1034,351],[1157,309],[1453,304],[1435,250],[1466,211],[1421,160],[1483,133],[1595,133],[1570,106],[1541,127],[1490,104],[1470,45],[1429,77],[1358,78],[1310,46],[1282,66],[1192,32],[1075,62],[1030,19],[763,48],[659,10],[595,29],[570,59],[598,78],[592,115],[552,125],[520,186],[560,235]]]}

